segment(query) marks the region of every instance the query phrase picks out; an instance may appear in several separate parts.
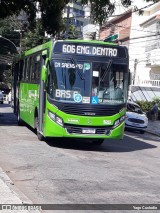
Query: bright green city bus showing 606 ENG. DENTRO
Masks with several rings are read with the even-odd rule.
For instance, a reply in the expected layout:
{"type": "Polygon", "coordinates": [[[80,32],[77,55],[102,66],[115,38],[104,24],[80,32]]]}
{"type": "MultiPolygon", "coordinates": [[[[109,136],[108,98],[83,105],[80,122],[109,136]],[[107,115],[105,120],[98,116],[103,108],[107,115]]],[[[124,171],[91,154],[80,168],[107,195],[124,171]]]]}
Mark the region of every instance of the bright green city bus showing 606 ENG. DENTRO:
{"type": "Polygon", "coordinates": [[[122,139],[128,64],[126,47],[102,41],[52,40],[18,55],[12,68],[18,124],[33,127],[39,140],[122,139]]]}

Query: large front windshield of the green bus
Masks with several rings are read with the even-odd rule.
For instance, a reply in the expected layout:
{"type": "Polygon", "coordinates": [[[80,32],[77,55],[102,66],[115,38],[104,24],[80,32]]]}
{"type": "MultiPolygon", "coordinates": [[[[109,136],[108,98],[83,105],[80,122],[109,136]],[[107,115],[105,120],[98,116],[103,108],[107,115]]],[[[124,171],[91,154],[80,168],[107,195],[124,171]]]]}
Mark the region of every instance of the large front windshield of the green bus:
{"type": "Polygon", "coordinates": [[[126,102],[127,70],[123,64],[75,59],[50,61],[48,93],[56,101],[84,104],[126,102]]]}

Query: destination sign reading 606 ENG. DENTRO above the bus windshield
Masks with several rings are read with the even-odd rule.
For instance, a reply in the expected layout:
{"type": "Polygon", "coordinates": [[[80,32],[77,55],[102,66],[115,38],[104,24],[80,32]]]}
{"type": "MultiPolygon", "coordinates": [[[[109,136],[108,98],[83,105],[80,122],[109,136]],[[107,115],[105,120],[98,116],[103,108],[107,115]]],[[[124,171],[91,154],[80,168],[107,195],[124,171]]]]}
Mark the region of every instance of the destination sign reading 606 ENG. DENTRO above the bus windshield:
{"type": "MultiPolygon", "coordinates": [[[[115,46],[85,44],[85,43],[64,43],[57,42],[54,46],[54,53],[62,54],[76,54],[76,55],[89,55],[89,56],[107,56],[107,57],[119,57],[119,50],[115,46]]],[[[123,50],[123,57],[125,50],[123,50]]]]}

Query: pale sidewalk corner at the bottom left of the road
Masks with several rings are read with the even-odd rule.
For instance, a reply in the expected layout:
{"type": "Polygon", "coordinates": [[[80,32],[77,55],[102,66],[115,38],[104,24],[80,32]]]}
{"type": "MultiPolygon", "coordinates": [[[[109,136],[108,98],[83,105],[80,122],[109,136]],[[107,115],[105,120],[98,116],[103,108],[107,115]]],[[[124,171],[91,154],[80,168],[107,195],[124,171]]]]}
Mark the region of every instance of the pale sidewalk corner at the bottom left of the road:
{"type": "Polygon", "coordinates": [[[38,210],[18,210],[17,206],[14,207],[14,205],[16,204],[19,204],[20,207],[22,205],[23,208],[23,204],[32,205],[32,202],[14,186],[14,183],[0,167],[0,212],[2,211],[3,213],[40,213],[38,210]],[[9,204],[12,204],[13,206],[11,207],[9,204]]]}

